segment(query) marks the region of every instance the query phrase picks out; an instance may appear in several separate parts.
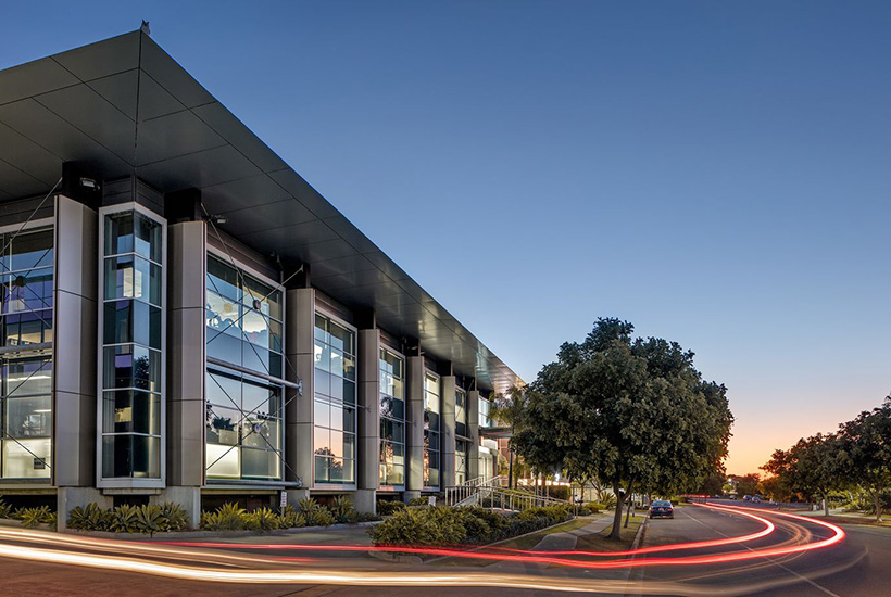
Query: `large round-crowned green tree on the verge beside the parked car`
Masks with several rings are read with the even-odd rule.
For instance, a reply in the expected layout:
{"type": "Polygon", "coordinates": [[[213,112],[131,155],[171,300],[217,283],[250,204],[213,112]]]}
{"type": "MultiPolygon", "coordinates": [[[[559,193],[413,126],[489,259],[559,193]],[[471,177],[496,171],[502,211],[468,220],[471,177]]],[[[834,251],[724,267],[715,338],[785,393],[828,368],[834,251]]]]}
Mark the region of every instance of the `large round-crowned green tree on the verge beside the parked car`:
{"type": "Polygon", "coordinates": [[[633,326],[599,319],[560,347],[527,394],[513,445],[532,466],[597,478],[617,498],[693,491],[720,469],[733,418],[726,388],[704,382],[676,342],[632,340],[633,326]]]}

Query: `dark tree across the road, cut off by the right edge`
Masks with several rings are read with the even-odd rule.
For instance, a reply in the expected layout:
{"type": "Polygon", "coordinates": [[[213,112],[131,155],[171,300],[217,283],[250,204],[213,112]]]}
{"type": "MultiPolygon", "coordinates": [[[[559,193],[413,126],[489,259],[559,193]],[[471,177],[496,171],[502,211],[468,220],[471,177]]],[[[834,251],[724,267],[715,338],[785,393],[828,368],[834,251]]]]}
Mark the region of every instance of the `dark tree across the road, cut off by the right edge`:
{"type": "Polygon", "coordinates": [[[891,396],[871,411],[865,410],[853,421],[842,423],[838,439],[850,458],[848,481],[873,496],[876,520],[881,520],[881,494],[891,487],[891,396]]]}

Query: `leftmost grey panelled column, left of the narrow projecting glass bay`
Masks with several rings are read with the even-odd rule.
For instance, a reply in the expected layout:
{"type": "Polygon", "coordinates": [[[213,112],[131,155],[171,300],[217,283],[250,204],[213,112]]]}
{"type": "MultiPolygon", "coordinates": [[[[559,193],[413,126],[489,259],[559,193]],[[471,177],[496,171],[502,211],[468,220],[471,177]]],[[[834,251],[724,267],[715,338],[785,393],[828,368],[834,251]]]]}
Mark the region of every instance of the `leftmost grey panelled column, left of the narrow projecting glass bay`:
{"type": "Polygon", "coordinates": [[[97,447],[97,226],[93,209],[65,196],[57,199],[52,364],[55,423],[49,466],[59,487],[60,529],[71,508],[81,501],[102,501],[99,491],[92,488],[97,447]]]}

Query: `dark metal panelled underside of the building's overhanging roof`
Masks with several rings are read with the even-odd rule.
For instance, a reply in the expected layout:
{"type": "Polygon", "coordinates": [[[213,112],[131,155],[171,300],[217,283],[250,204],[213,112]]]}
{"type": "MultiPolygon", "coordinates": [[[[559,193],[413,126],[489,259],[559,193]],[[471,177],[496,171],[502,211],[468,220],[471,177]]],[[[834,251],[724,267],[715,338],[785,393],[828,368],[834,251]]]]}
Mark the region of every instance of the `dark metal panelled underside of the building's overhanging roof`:
{"type": "Polygon", "coordinates": [[[221,228],[260,253],[310,264],[312,283],[417,338],[482,389],[504,363],[211,96],[134,31],[0,71],[0,203],[47,193],[63,162],[159,191],[199,188],[221,228]]]}

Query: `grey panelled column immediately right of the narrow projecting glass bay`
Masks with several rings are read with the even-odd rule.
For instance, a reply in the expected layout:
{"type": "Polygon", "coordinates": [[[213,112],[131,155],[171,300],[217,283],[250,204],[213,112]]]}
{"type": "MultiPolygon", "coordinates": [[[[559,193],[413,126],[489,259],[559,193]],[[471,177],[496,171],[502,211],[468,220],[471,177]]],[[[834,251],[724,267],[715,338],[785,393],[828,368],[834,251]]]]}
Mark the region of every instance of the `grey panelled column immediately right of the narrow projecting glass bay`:
{"type": "Polygon", "coordinates": [[[158,501],[176,501],[192,526],[201,518],[204,483],[204,285],[206,224],[167,226],[167,488],[158,501]]]}

